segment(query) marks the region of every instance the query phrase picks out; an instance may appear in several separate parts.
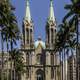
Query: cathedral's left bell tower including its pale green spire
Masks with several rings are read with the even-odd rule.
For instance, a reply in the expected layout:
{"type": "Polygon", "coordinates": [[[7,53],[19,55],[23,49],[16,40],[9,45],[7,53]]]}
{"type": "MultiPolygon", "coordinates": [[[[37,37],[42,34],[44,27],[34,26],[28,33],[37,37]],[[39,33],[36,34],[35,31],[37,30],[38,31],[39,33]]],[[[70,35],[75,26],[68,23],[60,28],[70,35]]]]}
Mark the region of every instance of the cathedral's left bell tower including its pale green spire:
{"type": "Polygon", "coordinates": [[[23,20],[23,47],[31,48],[33,44],[33,21],[30,13],[29,0],[26,0],[26,13],[23,20]]]}

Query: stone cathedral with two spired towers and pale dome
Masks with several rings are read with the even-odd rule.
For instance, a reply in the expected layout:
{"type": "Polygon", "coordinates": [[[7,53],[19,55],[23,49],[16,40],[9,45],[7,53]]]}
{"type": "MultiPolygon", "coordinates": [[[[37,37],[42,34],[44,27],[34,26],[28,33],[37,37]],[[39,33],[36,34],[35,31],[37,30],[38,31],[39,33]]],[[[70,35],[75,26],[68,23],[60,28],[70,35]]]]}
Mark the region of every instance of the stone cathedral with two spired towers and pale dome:
{"type": "Polygon", "coordinates": [[[46,40],[39,36],[34,41],[34,23],[30,12],[29,0],[26,0],[26,14],[22,26],[21,49],[24,54],[25,73],[21,80],[60,80],[59,60],[54,53],[56,21],[53,0],[50,0],[49,16],[45,25],[46,40]]]}

